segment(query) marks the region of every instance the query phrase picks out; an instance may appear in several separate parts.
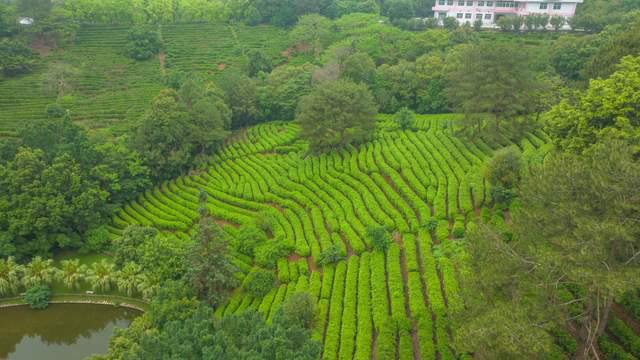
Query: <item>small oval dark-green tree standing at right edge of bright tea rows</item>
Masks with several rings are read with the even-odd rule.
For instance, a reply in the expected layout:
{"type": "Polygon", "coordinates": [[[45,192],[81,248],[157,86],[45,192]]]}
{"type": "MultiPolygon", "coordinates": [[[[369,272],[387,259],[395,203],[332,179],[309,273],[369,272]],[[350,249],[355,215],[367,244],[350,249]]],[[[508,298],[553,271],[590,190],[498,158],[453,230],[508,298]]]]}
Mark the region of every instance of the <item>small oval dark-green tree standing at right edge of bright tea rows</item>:
{"type": "Polygon", "coordinates": [[[498,203],[509,203],[520,183],[522,155],[515,147],[496,151],[487,165],[486,176],[491,184],[491,197],[498,203]]]}

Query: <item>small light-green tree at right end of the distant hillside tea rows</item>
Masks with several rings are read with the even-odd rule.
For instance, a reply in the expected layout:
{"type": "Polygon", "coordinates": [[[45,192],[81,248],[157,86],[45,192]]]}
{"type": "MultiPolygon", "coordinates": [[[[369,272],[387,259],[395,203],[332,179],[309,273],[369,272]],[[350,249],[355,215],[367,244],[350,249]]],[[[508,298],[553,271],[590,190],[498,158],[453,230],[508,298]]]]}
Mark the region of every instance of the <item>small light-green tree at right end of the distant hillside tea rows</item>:
{"type": "Polygon", "coordinates": [[[315,57],[329,45],[333,37],[333,22],[317,14],[304,15],[291,31],[291,39],[297,46],[308,46],[315,57]]]}

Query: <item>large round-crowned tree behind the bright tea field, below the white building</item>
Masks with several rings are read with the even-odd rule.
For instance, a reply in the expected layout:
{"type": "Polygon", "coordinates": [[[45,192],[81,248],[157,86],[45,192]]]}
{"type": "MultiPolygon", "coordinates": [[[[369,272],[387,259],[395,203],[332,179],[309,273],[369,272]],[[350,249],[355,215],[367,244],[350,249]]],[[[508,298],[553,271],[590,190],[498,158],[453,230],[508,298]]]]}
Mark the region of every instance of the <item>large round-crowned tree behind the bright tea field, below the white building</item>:
{"type": "MultiPolygon", "coordinates": [[[[469,45],[457,53],[459,63],[446,73],[446,94],[454,108],[472,118],[490,114],[495,131],[503,120],[528,112],[529,95],[538,84],[525,51],[510,45],[469,45]]],[[[452,62],[452,64],[455,62],[452,62]]],[[[482,122],[477,121],[477,131],[482,122]]]]}

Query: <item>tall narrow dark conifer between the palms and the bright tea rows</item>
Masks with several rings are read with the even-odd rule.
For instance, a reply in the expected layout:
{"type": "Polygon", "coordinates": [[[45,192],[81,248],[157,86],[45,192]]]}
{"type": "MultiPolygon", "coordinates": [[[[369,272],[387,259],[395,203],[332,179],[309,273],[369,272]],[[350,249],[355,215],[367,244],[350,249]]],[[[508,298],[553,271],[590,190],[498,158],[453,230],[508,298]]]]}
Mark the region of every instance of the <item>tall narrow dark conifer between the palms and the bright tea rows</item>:
{"type": "Polygon", "coordinates": [[[236,267],[228,259],[227,241],[220,227],[203,217],[194,237],[196,244],[189,254],[187,279],[198,298],[219,306],[236,284],[236,267]]]}

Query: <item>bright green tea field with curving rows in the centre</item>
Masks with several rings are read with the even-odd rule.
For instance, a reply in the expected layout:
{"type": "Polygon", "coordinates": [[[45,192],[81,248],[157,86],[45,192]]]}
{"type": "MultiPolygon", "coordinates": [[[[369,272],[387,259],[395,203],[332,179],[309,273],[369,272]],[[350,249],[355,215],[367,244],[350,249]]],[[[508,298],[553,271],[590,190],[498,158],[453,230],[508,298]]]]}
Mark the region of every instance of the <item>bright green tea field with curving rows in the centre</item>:
{"type": "MultiPolygon", "coordinates": [[[[455,121],[423,116],[417,131],[399,131],[381,117],[374,141],[321,156],[305,155],[296,124],[259,125],[235,136],[207,169],[126,205],[111,231],[117,237],[143,224],[188,236],[201,189],[232,235],[271,213],[277,223],[270,241],[295,249],[277,262],[278,285],[263,298],[238,290],[218,315],[253,309],[271,319],[287,298],[306,291],[317,300],[314,336],[323,359],[453,359],[447,313],[462,306],[458,269],[438,248],[473,226],[489,201],[484,162],[511,144],[457,137],[455,121]],[[431,232],[423,226],[430,219],[437,221],[431,232]],[[372,251],[365,236],[376,224],[393,232],[386,253],[372,251]],[[319,266],[331,246],[347,260],[319,266]]],[[[544,157],[546,142],[536,132],[516,145],[534,159],[544,157]]],[[[234,262],[240,279],[255,266],[241,254],[234,262]]]]}

